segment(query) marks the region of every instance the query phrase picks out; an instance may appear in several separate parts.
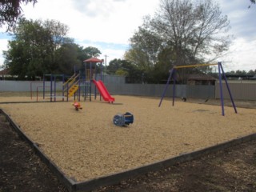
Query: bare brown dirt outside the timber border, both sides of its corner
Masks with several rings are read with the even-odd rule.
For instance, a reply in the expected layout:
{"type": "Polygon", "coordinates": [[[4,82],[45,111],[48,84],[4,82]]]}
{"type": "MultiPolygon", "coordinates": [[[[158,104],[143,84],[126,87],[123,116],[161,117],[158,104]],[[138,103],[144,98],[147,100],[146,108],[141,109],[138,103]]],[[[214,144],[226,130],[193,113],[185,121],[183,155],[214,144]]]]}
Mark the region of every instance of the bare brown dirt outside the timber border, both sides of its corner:
{"type": "MultiPolygon", "coordinates": [[[[66,188],[0,114],[0,191],[59,191],[66,188]]],[[[256,142],[247,142],[191,162],[106,186],[94,192],[255,191],[256,142]]]]}

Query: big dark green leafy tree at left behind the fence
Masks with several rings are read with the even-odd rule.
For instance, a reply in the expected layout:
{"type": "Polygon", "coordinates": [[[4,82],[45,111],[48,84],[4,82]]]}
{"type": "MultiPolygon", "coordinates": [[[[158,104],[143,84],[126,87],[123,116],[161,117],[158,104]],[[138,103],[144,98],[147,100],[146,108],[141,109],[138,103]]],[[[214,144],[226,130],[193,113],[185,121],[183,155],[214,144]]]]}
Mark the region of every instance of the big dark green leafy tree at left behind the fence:
{"type": "Polygon", "coordinates": [[[47,23],[49,21],[28,21],[24,18],[18,22],[14,30],[14,40],[9,41],[9,50],[4,52],[4,64],[10,69],[10,74],[18,75],[21,79],[34,79],[36,76],[58,71],[55,52],[61,43],[72,40],[65,38],[64,32],[58,34],[58,38],[53,35],[63,24],[51,22],[58,25],[48,27],[47,23]],[[66,41],[59,42],[60,37],[66,41]]]}

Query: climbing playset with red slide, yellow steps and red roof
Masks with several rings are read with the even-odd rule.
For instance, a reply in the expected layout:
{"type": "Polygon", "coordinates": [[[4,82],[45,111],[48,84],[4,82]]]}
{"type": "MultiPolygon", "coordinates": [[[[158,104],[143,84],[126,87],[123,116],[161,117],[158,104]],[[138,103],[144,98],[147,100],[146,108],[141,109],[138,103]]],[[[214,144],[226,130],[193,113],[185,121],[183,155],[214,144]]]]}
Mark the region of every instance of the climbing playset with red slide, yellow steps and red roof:
{"type": "MultiPolygon", "coordinates": [[[[56,102],[56,98],[61,98],[62,101],[69,101],[69,98],[74,97],[74,100],[80,102],[82,96],[84,101],[89,97],[91,102],[92,95],[94,95],[94,99],[96,99],[98,90],[100,100],[103,98],[104,101],[113,103],[114,98],[111,97],[109,91],[102,82],[102,62],[103,61],[98,58],[86,59],[84,61],[84,71],[76,72],[74,70],[74,74],[71,77],[67,77],[64,74],[44,74],[42,82],[43,85],[40,86],[42,87],[43,99],[48,96],[50,97],[50,102],[56,102]],[[97,63],[100,63],[100,69],[97,68],[97,63]],[[46,86],[47,78],[50,80],[50,86],[46,86]],[[57,81],[62,82],[62,91],[58,94],[56,91],[57,81]],[[94,89],[92,86],[94,86],[94,89]],[[46,95],[46,87],[50,88],[49,95],[46,95]],[[92,93],[93,90],[94,93],[92,93]]],[[[37,99],[38,88],[40,87],[37,87],[37,99]]]]}

